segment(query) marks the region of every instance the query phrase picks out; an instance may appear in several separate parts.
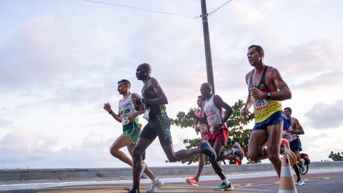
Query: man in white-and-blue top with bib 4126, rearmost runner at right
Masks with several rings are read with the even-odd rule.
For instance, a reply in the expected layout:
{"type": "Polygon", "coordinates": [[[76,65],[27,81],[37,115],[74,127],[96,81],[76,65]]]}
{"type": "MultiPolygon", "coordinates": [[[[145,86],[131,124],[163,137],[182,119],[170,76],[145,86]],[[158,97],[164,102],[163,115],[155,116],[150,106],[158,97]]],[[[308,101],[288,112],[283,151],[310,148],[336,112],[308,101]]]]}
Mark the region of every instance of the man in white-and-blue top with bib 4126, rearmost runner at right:
{"type": "Polygon", "coordinates": [[[297,175],[297,181],[295,182],[295,185],[303,185],[305,182],[301,180],[300,178],[300,170],[298,164],[301,164],[302,168],[304,168],[305,160],[300,158],[299,151],[301,148],[301,142],[299,139],[299,135],[303,135],[305,133],[303,127],[300,125],[298,119],[291,117],[292,115],[292,109],[289,107],[286,107],[283,109],[283,112],[285,113],[285,116],[289,119],[291,118],[291,126],[289,128],[284,128],[282,133],[282,138],[285,138],[289,146],[291,147],[291,151],[295,154],[297,157],[297,164],[293,165],[293,169],[295,171],[295,174],[297,175]]]}

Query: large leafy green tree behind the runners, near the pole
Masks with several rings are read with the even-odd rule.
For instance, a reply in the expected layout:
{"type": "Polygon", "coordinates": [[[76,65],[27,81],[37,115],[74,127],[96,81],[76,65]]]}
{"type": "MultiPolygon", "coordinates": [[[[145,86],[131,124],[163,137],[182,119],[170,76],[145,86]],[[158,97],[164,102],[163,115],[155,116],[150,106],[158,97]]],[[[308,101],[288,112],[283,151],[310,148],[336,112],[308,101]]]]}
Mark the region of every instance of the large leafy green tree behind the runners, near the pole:
{"type": "MultiPolygon", "coordinates": [[[[243,117],[240,114],[240,110],[242,109],[244,105],[245,104],[243,100],[239,99],[237,102],[235,102],[235,105],[232,106],[232,108],[234,109],[234,112],[226,121],[227,127],[230,132],[229,132],[229,137],[227,139],[227,143],[224,146],[224,151],[230,149],[232,145],[235,144],[235,142],[238,142],[241,145],[242,149],[244,150],[244,156],[248,159],[247,164],[258,163],[261,161],[258,161],[258,162],[251,161],[248,157],[248,144],[249,144],[249,137],[250,137],[252,129],[244,129],[243,126],[247,125],[250,121],[252,121],[252,119],[254,118],[254,113],[248,112],[248,116],[243,117]]],[[[196,111],[198,109],[199,108],[190,108],[189,110],[196,111]]],[[[194,119],[187,116],[187,114],[182,111],[180,111],[176,115],[176,119],[170,119],[170,122],[172,125],[180,126],[181,129],[194,128],[194,119]]],[[[199,135],[199,132],[197,132],[197,135],[199,135]]],[[[193,147],[199,147],[201,144],[201,138],[185,139],[183,143],[186,144],[187,149],[190,149],[193,147]]],[[[197,162],[197,161],[199,161],[199,156],[194,155],[190,158],[180,160],[179,162],[181,162],[182,164],[188,162],[187,164],[189,165],[192,162],[197,162]]],[[[166,162],[169,162],[169,161],[166,160],[166,162]]],[[[223,162],[224,164],[226,164],[225,161],[223,162]]],[[[210,165],[210,162],[207,156],[205,156],[205,164],[210,165]]],[[[236,164],[236,162],[229,160],[229,164],[236,164]]]]}

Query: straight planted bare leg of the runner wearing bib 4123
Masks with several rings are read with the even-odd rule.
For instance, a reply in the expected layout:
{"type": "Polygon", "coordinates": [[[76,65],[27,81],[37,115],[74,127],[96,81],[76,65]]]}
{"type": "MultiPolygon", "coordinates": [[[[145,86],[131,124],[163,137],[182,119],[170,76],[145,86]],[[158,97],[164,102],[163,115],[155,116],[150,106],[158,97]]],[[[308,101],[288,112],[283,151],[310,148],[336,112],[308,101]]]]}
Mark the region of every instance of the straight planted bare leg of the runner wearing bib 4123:
{"type": "Polygon", "coordinates": [[[282,120],[281,123],[270,125],[267,127],[268,131],[268,148],[267,148],[267,155],[272,162],[274,169],[277,173],[277,176],[280,178],[281,172],[281,158],[280,158],[280,145],[282,139],[282,127],[284,121],[282,120]]]}

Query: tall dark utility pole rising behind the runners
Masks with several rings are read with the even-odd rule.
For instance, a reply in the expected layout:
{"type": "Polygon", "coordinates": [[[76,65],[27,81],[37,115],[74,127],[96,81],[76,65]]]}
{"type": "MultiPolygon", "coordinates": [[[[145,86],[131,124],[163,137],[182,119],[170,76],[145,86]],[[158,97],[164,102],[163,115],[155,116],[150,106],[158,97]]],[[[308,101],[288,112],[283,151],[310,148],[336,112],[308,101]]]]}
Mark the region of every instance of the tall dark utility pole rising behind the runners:
{"type": "Polygon", "coordinates": [[[207,82],[211,84],[212,93],[214,94],[214,80],[213,80],[213,69],[212,69],[210,34],[209,34],[209,24],[207,21],[207,10],[206,10],[205,0],[201,0],[201,17],[202,17],[202,27],[204,30],[207,82]]]}

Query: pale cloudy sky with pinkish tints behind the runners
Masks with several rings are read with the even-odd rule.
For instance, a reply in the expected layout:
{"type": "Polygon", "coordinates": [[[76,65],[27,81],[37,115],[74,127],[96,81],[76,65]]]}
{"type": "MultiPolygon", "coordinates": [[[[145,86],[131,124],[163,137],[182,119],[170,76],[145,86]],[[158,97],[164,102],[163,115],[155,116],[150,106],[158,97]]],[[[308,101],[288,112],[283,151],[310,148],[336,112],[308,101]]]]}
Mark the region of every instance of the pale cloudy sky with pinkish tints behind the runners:
{"type": "MultiPolygon", "coordinates": [[[[208,13],[226,2],[207,1],[208,13]]],[[[103,104],[118,111],[121,79],[141,94],[135,77],[141,63],[152,66],[170,118],[197,106],[207,82],[199,0],[0,5],[0,168],[129,167],[109,153],[122,127],[103,104]]],[[[303,126],[300,139],[311,161],[343,151],[342,7],[339,0],[233,0],[208,18],[215,94],[229,105],[247,98],[247,50],[261,45],[265,64],[277,68],[292,91],[282,105],[303,126]]],[[[176,126],[171,135],[174,150],[199,137],[176,126]]],[[[165,160],[156,139],[145,161],[182,165],[165,160]]]]}

